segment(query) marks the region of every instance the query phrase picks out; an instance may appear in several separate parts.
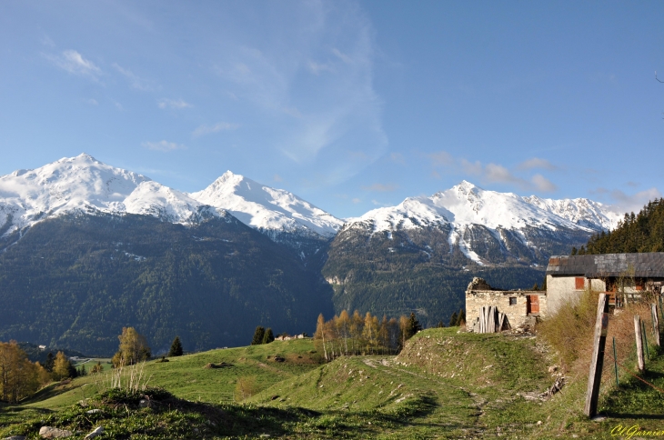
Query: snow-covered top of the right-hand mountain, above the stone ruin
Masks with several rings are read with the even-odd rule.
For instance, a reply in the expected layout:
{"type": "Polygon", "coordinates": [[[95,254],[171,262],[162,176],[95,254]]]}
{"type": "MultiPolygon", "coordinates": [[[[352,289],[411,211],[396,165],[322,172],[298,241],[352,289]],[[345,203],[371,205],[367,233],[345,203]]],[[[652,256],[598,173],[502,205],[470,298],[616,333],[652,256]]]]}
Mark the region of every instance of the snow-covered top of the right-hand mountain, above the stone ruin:
{"type": "MultiPolygon", "coordinates": [[[[463,181],[430,197],[409,197],[397,206],[377,208],[350,220],[341,231],[387,234],[425,228],[445,230],[450,252],[457,247],[478,264],[517,256],[523,249],[544,250],[548,241],[586,241],[615,227],[619,215],[588,199],[550,200],[487,191],[463,181]],[[558,237],[558,238],[556,238],[558,237]],[[489,254],[493,254],[489,256],[489,254]],[[515,254],[516,253],[516,254],[515,254]]],[[[547,252],[544,252],[547,256],[547,252]]],[[[538,261],[541,258],[531,258],[538,261]]]]}

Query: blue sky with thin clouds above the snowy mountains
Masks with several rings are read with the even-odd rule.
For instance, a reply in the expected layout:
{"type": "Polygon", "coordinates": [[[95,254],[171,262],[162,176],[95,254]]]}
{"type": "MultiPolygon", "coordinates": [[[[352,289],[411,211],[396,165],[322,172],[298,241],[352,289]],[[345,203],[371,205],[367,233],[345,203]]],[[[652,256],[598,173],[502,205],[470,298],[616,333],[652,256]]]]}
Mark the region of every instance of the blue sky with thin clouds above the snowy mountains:
{"type": "Polygon", "coordinates": [[[661,196],[663,2],[0,3],[0,175],[86,152],[339,217],[463,179],[661,196]]]}

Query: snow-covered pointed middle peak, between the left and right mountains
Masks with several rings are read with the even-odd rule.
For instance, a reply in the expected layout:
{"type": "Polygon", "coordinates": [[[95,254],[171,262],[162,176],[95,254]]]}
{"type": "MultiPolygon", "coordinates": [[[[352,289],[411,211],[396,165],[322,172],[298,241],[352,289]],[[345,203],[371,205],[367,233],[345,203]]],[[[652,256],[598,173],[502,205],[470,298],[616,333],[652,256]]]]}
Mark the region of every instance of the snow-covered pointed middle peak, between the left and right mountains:
{"type": "Polygon", "coordinates": [[[337,234],[343,220],[283,189],[261,185],[226,171],[203,191],[189,194],[198,202],[225,209],[246,225],[264,232],[337,234]]]}

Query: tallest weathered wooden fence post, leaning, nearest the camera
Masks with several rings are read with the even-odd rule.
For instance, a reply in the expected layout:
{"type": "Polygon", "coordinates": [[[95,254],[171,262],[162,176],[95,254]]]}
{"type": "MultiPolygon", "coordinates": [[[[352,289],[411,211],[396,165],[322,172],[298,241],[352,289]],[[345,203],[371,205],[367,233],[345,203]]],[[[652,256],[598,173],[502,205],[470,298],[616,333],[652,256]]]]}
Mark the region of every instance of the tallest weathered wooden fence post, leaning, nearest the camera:
{"type": "Polygon", "coordinates": [[[593,336],[592,360],[588,376],[588,389],[586,390],[586,406],[584,414],[589,417],[597,415],[599,399],[599,382],[602,378],[604,365],[604,347],[607,345],[607,331],[609,328],[609,301],[606,294],[599,294],[597,319],[595,321],[595,335],[593,336]]]}

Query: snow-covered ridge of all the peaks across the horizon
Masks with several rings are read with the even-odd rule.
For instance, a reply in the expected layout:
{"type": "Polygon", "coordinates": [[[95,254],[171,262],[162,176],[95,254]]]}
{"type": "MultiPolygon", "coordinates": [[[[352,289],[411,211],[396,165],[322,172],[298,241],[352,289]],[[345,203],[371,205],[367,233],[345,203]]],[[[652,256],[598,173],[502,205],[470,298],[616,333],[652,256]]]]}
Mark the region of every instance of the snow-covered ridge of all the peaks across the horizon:
{"type": "Polygon", "coordinates": [[[560,225],[598,232],[615,227],[621,218],[612,206],[585,198],[556,200],[498,193],[464,180],[429,197],[407,197],[399,205],[342,220],[286,190],[231,171],[203,190],[187,194],[85,153],[0,176],[0,225],[7,223],[8,215],[12,222],[4,234],[73,210],[153,215],[181,224],[227,211],[277,241],[291,234],[325,241],[344,227],[367,220],[374,222],[377,231],[449,223],[460,225],[453,229],[462,235],[468,225],[518,230],[526,224],[547,223],[549,229],[560,225]]]}

